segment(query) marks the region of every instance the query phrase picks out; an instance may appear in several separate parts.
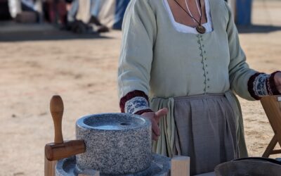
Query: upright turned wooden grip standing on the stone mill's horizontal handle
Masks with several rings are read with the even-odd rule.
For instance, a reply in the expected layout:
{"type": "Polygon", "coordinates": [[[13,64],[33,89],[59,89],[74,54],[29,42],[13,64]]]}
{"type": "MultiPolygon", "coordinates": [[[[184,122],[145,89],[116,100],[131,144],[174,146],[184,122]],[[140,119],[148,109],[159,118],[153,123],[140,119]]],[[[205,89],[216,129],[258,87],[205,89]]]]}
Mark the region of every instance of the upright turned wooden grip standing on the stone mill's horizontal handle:
{"type": "Polygon", "coordinates": [[[54,143],[63,143],[62,120],[63,120],[63,99],[59,95],[52,97],[50,101],[50,111],[55,126],[54,143]]]}

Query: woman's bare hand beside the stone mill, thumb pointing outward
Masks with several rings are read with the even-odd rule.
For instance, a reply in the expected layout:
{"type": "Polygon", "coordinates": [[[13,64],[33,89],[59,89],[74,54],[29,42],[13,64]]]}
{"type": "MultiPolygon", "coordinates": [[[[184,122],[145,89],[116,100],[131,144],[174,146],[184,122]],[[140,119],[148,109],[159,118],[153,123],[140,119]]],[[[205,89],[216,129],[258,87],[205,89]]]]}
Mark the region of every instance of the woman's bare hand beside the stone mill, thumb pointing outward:
{"type": "Polygon", "coordinates": [[[158,127],[159,120],[168,113],[167,108],[162,108],[157,112],[143,113],[141,116],[148,118],[152,123],[152,139],[157,141],[160,136],[160,129],[158,127]]]}

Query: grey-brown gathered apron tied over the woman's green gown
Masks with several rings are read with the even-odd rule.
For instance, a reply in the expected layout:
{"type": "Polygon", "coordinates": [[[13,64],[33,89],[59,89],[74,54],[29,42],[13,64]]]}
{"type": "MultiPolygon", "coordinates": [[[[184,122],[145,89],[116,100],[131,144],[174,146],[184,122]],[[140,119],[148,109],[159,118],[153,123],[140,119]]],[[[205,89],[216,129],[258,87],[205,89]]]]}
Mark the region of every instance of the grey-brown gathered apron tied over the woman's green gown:
{"type": "Polygon", "coordinates": [[[174,99],[174,155],[190,156],[190,174],[212,172],[238,158],[235,115],[224,94],[174,99]]]}

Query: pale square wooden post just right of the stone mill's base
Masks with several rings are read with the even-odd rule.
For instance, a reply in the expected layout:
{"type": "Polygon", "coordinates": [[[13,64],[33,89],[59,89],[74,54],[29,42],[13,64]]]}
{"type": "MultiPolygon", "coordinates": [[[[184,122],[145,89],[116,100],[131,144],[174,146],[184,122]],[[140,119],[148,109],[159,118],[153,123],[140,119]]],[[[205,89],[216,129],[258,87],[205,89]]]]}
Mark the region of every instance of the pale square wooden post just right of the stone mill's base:
{"type": "Polygon", "coordinates": [[[190,157],[175,156],[172,158],[171,176],[190,176],[190,157]]]}

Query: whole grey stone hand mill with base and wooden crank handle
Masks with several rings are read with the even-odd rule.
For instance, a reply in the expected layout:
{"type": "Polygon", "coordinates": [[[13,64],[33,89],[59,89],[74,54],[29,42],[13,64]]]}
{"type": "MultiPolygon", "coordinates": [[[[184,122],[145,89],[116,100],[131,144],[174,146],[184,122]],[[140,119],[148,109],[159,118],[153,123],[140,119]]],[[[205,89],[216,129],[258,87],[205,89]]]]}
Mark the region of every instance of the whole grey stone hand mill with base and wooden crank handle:
{"type": "Polygon", "coordinates": [[[104,113],[76,122],[76,140],[63,141],[63,101],[51,99],[55,142],[46,144],[46,170],[55,175],[168,175],[171,159],[152,153],[150,120],[140,115],[104,113]]]}

